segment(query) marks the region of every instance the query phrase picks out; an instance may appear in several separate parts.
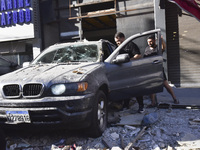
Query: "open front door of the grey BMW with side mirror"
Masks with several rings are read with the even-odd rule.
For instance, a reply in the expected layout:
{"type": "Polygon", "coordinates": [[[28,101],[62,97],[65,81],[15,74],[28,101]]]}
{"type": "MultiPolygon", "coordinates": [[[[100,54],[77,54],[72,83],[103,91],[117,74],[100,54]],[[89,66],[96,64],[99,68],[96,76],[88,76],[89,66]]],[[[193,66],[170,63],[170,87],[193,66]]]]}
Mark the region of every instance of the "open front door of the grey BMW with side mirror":
{"type": "Polygon", "coordinates": [[[143,47],[139,46],[143,55],[144,50],[142,49],[147,46],[144,37],[151,34],[157,35],[157,45],[159,51],[161,51],[160,30],[152,30],[129,37],[105,60],[106,74],[109,81],[109,98],[111,100],[126,99],[163,90],[162,55],[124,63],[114,63],[120,49],[133,40],[136,40],[136,42],[134,41],[135,44],[143,45],[143,47]]]}

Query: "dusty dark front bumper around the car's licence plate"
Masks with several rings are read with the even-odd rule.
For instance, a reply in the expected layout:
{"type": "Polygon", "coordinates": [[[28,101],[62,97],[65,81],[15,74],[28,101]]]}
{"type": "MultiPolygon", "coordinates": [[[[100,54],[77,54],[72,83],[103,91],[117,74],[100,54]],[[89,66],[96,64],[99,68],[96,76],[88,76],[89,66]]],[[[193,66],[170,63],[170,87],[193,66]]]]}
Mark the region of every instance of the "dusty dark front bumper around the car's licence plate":
{"type": "Polygon", "coordinates": [[[85,128],[91,123],[94,94],[45,97],[41,99],[0,99],[0,124],[8,122],[6,111],[28,111],[30,123],[18,125],[65,125],[85,128]]]}

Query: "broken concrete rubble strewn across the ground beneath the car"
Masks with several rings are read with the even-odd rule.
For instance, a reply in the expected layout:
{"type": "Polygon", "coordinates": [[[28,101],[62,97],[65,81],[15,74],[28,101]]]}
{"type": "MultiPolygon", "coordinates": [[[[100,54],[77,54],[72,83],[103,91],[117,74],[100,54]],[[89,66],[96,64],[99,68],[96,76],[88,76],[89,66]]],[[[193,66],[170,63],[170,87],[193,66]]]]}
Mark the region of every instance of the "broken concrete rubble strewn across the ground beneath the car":
{"type": "Polygon", "coordinates": [[[111,120],[118,122],[110,123],[99,138],[84,137],[74,132],[15,137],[10,135],[7,137],[7,147],[9,150],[200,149],[199,109],[147,108],[141,118],[141,125],[120,124],[119,120],[123,117],[134,116],[133,109],[118,111],[111,115],[114,117],[111,120]],[[148,116],[146,119],[150,120],[145,124],[144,118],[149,114],[154,114],[153,118],[151,115],[148,116]]]}

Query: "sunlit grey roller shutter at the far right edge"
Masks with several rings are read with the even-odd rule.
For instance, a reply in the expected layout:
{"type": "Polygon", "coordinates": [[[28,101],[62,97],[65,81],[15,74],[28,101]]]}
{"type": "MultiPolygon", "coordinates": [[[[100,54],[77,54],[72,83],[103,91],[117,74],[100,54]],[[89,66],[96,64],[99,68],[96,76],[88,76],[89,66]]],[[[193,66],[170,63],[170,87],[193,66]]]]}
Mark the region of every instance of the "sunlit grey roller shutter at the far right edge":
{"type": "Polygon", "coordinates": [[[200,22],[183,11],[179,17],[181,86],[200,86],[200,22]]]}

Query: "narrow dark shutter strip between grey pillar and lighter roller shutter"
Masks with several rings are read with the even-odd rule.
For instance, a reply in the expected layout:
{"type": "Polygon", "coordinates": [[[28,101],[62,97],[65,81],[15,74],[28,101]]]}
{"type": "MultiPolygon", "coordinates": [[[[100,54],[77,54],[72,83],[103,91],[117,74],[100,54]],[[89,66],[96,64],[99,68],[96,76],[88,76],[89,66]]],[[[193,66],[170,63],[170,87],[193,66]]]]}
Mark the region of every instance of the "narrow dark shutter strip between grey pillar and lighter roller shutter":
{"type": "Polygon", "coordinates": [[[168,1],[166,1],[166,35],[168,80],[180,86],[178,7],[168,1]]]}

